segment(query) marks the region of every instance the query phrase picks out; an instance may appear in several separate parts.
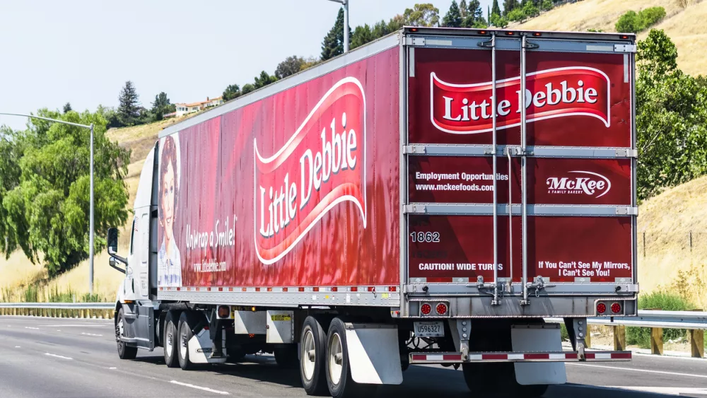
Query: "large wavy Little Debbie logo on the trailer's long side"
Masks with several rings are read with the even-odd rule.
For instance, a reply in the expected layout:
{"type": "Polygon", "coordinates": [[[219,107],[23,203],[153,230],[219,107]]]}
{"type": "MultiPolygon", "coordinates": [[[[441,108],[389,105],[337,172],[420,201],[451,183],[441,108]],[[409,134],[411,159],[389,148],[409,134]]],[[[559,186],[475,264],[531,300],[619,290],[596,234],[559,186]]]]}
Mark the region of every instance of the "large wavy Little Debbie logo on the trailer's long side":
{"type": "Polygon", "coordinates": [[[264,158],[255,140],[253,147],[255,250],[263,264],[284,257],[341,202],[356,206],[366,228],[366,95],[356,78],[329,88],[274,155],[264,158]]]}

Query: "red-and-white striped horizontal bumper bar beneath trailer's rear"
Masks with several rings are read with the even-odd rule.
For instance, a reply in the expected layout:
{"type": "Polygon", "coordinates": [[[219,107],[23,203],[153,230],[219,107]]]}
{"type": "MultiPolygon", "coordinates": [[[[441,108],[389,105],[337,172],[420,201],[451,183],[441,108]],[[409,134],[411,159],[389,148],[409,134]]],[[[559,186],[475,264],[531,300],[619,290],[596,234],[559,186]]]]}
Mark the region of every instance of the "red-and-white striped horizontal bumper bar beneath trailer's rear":
{"type": "Polygon", "coordinates": [[[470,352],[467,358],[460,352],[410,353],[410,363],[490,363],[490,362],[601,362],[631,361],[631,351],[559,352],[470,352]]]}

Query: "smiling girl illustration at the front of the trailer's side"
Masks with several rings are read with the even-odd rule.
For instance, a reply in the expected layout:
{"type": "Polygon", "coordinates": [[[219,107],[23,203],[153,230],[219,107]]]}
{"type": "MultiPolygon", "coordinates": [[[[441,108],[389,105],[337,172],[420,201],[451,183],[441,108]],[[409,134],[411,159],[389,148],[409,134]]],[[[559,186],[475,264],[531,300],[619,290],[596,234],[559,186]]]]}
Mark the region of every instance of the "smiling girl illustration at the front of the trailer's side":
{"type": "Polygon", "coordinates": [[[159,219],[162,243],[158,254],[159,286],[182,286],[182,257],[175,241],[179,209],[180,153],[172,136],[160,140],[159,219]]]}

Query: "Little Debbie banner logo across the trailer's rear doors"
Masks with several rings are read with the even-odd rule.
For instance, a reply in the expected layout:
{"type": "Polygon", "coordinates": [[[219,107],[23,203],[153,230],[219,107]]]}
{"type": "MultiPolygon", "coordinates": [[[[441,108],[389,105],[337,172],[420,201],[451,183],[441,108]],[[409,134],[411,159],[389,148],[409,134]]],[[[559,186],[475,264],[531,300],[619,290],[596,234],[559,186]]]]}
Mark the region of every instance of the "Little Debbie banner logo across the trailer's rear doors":
{"type": "MultiPolygon", "coordinates": [[[[583,67],[545,69],[527,74],[525,108],[527,122],[564,116],[595,117],[609,127],[609,90],[604,72],[583,67]]],[[[491,82],[452,84],[430,74],[432,124],[450,134],[491,131],[520,125],[520,76],[496,81],[496,110],[491,109],[491,82]]]]}

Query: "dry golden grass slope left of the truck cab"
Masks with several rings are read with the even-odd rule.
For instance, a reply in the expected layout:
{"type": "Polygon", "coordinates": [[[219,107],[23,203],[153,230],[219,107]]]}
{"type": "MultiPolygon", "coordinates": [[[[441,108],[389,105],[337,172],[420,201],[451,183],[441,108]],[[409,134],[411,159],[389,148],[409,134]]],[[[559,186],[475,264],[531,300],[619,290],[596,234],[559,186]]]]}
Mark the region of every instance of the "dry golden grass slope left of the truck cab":
{"type": "MultiPolygon", "coordinates": [[[[140,172],[148,151],[153,148],[160,130],[174,122],[174,119],[169,119],[136,127],[110,129],[106,132],[109,139],[132,150],[131,163],[125,179],[130,195],[128,201],[130,208],[135,199],[140,172]]],[[[122,226],[120,230],[119,252],[126,253],[128,250],[131,222],[132,218],[129,217],[127,225],[122,226]]],[[[108,267],[107,252],[96,253],[93,272],[94,293],[112,300],[123,274],[108,267]]],[[[47,271],[41,264],[31,264],[22,252],[15,252],[9,259],[0,258],[0,276],[0,299],[6,301],[20,300],[23,291],[30,285],[38,286],[40,298],[46,298],[51,289],[59,292],[75,292],[77,298],[88,292],[88,261],[81,262],[66,274],[49,281],[47,271]]]]}

